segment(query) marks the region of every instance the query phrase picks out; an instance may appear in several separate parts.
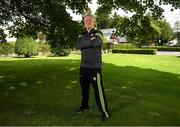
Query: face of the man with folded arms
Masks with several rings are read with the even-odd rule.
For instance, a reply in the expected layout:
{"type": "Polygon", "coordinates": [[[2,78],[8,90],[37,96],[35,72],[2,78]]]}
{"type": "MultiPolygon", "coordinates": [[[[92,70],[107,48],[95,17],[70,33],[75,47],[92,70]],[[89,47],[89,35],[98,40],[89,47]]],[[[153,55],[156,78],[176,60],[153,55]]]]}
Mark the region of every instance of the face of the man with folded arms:
{"type": "Polygon", "coordinates": [[[84,24],[85,24],[86,29],[94,28],[94,18],[92,16],[84,17],[84,24]]]}

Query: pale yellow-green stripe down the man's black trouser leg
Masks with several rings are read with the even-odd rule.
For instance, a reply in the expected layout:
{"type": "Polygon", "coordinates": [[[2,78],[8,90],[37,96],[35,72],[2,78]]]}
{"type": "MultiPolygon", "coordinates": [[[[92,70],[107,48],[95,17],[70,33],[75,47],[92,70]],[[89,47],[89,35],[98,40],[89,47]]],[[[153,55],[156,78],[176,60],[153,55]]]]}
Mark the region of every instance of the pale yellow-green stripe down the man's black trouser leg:
{"type": "Polygon", "coordinates": [[[102,92],[102,88],[101,88],[101,78],[100,78],[99,73],[97,73],[97,84],[98,84],[98,92],[99,92],[99,98],[100,98],[102,110],[105,113],[106,117],[109,117],[109,115],[106,111],[106,108],[105,108],[105,102],[104,102],[103,92],[102,92]]]}

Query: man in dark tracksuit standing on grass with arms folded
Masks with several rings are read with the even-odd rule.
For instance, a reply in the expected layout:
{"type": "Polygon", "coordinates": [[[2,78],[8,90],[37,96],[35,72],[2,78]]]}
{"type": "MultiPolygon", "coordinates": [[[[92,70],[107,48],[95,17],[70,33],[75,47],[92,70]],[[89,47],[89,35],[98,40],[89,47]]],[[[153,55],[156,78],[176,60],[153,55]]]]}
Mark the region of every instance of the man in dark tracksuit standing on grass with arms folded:
{"type": "Polygon", "coordinates": [[[89,109],[89,88],[92,84],[98,109],[102,113],[102,119],[107,120],[109,114],[101,77],[103,34],[95,30],[92,15],[86,15],[84,23],[87,31],[79,37],[75,45],[75,48],[81,50],[80,85],[82,90],[81,106],[76,112],[82,113],[89,109]]]}

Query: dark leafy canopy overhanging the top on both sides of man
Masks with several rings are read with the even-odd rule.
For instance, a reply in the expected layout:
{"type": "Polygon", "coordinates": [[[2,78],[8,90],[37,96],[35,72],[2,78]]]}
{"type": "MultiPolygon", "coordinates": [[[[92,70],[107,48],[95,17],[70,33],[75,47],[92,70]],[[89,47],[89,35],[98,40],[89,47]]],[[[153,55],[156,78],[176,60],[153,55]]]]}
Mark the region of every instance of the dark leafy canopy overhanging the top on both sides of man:
{"type": "MultiPolygon", "coordinates": [[[[20,36],[36,36],[39,31],[47,35],[52,46],[73,45],[82,30],[77,21],[73,21],[67,8],[83,14],[92,0],[1,0],[0,26],[13,24],[10,33],[20,36]]],[[[139,22],[148,22],[145,13],[150,11],[153,17],[161,17],[163,9],[158,4],[171,4],[180,8],[179,0],[97,0],[99,12],[111,13],[111,10],[123,9],[135,12],[128,21],[132,26],[139,22]]]]}

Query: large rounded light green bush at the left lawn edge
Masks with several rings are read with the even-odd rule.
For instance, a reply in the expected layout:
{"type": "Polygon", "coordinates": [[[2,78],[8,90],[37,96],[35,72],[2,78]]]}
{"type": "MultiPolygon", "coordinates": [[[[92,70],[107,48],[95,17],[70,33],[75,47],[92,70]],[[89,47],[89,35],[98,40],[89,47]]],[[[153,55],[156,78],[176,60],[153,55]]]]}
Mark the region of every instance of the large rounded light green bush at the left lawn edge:
{"type": "Polygon", "coordinates": [[[38,54],[38,43],[30,37],[19,38],[15,44],[15,53],[31,57],[38,54]]]}

